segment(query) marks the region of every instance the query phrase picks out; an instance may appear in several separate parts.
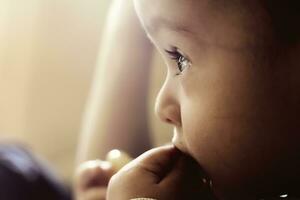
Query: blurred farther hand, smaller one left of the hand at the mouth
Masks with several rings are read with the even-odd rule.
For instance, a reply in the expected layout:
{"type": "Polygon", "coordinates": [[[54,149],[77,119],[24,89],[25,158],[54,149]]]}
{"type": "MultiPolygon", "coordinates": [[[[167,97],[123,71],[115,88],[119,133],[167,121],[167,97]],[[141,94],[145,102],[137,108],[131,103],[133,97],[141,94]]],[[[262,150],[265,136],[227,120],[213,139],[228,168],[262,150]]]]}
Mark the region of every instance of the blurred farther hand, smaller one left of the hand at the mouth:
{"type": "Polygon", "coordinates": [[[93,160],[81,164],[75,175],[76,200],[105,200],[113,173],[111,164],[106,161],[93,160]]]}

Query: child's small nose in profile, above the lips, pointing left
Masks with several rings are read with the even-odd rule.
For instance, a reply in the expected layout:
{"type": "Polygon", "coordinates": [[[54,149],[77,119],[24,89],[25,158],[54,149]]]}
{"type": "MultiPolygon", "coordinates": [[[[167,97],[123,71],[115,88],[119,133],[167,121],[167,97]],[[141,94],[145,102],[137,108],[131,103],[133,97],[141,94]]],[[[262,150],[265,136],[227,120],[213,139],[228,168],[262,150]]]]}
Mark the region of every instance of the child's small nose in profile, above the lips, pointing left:
{"type": "Polygon", "coordinates": [[[166,79],[156,98],[155,113],[163,121],[181,127],[181,111],[178,87],[171,79],[166,79]]]}

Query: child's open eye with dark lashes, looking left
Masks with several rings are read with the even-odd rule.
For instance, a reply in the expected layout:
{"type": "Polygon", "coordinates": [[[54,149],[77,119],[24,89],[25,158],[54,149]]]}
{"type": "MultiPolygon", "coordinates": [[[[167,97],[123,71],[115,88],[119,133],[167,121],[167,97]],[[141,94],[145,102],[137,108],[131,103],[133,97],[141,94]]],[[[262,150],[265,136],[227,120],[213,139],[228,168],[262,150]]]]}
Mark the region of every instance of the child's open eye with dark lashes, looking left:
{"type": "Polygon", "coordinates": [[[174,47],[172,50],[165,50],[165,52],[169,55],[172,60],[175,60],[177,64],[177,68],[179,73],[176,75],[181,74],[187,67],[191,65],[191,61],[184,56],[178,48],[174,47]]]}

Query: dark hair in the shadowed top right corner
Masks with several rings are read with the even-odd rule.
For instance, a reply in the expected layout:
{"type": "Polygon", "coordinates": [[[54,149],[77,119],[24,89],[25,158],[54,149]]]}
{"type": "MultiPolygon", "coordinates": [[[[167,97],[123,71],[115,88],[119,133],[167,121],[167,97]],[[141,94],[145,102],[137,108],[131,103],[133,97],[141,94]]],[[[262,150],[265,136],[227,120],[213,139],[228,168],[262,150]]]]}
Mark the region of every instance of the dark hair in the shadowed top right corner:
{"type": "Polygon", "coordinates": [[[284,43],[297,43],[300,39],[300,1],[263,0],[270,16],[275,35],[284,43]]]}

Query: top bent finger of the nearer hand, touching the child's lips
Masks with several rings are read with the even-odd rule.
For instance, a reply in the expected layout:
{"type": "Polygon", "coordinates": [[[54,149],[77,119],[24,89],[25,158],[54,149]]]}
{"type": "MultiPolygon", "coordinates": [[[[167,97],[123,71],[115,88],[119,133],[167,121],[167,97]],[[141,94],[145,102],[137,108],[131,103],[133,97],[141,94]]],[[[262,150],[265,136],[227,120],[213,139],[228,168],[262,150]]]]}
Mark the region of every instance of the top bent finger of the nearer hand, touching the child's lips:
{"type": "Polygon", "coordinates": [[[122,170],[136,166],[146,172],[146,175],[148,173],[154,183],[159,183],[172,169],[180,154],[181,152],[173,145],[157,147],[142,154],[122,170]]]}

